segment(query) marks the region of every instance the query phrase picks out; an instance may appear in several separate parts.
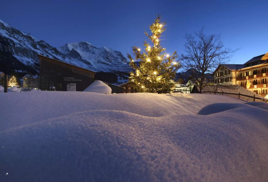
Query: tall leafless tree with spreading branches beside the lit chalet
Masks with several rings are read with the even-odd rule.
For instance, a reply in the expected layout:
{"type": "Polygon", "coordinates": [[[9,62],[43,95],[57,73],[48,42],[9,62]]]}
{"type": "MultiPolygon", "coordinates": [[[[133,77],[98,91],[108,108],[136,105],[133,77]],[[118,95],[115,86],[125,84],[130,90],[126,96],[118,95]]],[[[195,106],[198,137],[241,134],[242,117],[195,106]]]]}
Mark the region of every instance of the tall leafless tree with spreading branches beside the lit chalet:
{"type": "Polygon", "coordinates": [[[191,70],[200,93],[208,83],[214,83],[212,73],[219,64],[226,64],[236,51],[224,48],[220,34],[205,35],[203,28],[194,36],[186,34],[184,47],[186,53],[180,56],[182,68],[191,70]]]}

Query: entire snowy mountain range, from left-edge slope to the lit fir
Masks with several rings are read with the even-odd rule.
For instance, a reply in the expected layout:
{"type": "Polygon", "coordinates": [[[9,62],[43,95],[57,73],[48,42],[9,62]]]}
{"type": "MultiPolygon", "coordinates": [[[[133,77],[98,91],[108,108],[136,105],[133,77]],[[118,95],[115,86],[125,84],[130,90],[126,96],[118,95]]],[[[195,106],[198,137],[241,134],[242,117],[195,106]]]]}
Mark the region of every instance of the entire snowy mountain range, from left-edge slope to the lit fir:
{"type": "MultiPolygon", "coordinates": [[[[88,42],[66,44],[56,49],[47,42],[36,39],[32,35],[22,32],[2,20],[0,20],[0,51],[13,56],[13,58],[6,59],[5,61],[14,61],[16,59],[16,61],[33,68],[37,72],[39,71],[37,54],[95,72],[129,72],[131,70],[127,59],[119,51],[105,47],[96,48],[88,42]]],[[[14,63],[9,64],[14,65],[14,63]]],[[[4,65],[4,63],[1,63],[1,65],[4,65]]],[[[20,68],[15,69],[20,70],[20,68]]]]}

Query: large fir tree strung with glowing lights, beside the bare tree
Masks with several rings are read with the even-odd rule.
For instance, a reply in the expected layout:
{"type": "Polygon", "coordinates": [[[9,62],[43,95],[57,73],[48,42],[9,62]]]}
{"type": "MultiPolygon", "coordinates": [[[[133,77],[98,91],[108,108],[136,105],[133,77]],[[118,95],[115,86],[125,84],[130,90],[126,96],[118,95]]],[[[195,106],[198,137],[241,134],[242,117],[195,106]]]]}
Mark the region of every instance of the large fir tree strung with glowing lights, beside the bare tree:
{"type": "Polygon", "coordinates": [[[169,55],[166,53],[166,48],[160,45],[161,34],[166,28],[165,23],[161,23],[159,16],[149,26],[149,29],[152,34],[147,32],[145,34],[151,40],[152,45],[145,41],[144,51],[133,46],[135,59],[127,54],[130,66],[134,69],[134,72],[130,72],[129,81],[140,92],[168,93],[174,86],[172,79],[180,68],[180,63],[175,60],[177,58],[176,51],[169,55]],[[136,61],[139,61],[139,66],[135,63],[136,61]]]}

